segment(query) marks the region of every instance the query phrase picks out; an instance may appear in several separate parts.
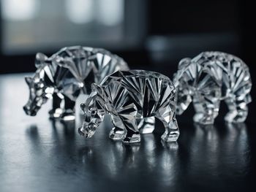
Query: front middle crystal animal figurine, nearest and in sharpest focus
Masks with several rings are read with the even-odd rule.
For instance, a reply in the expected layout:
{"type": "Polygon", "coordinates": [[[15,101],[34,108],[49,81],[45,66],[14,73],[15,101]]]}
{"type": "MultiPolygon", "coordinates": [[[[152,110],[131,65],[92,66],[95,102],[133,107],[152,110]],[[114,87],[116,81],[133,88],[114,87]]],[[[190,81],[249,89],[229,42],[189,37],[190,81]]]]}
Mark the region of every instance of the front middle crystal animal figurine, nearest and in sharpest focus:
{"type": "Polygon", "coordinates": [[[81,109],[85,120],[78,132],[84,137],[93,136],[107,113],[114,126],[110,139],[140,142],[138,125],[148,118],[162,121],[165,126],[162,140],[178,139],[176,89],[168,77],[157,72],[130,70],[110,74],[100,85],[92,84],[92,92],[81,109]]]}

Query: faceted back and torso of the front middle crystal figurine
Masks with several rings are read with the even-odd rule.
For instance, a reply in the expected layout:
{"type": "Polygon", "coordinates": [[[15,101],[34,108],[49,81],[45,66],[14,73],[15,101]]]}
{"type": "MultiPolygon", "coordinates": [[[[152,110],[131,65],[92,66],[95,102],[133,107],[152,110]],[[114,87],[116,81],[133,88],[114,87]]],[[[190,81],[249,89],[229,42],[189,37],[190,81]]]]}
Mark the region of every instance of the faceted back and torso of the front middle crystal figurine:
{"type": "Polygon", "coordinates": [[[173,82],[157,72],[118,71],[106,77],[101,85],[114,107],[133,103],[140,118],[154,116],[161,107],[170,103],[173,104],[172,108],[175,107],[176,89],[173,82]]]}

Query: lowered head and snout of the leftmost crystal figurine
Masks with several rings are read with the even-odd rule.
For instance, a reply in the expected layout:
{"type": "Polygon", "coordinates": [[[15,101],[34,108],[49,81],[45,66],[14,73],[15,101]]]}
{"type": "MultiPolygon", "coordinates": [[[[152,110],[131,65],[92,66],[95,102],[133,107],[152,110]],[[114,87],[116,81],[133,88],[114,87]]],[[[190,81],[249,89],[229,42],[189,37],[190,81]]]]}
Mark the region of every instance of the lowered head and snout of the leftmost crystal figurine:
{"type": "Polygon", "coordinates": [[[48,88],[44,80],[38,77],[25,77],[26,83],[29,85],[29,101],[23,107],[27,115],[35,116],[42,104],[48,100],[53,93],[53,88],[48,88]]]}

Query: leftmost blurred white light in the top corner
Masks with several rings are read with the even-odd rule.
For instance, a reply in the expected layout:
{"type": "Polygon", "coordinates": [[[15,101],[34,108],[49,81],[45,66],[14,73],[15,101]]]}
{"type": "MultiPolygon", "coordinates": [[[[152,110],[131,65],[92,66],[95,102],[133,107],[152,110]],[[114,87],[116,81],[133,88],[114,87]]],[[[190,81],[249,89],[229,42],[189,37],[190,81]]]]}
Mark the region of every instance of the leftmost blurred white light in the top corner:
{"type": "Polygon", "coordinates": [[[7,20],[30,20],[35,17],[37,0],[1,0],[1,12],[7,20]]]}

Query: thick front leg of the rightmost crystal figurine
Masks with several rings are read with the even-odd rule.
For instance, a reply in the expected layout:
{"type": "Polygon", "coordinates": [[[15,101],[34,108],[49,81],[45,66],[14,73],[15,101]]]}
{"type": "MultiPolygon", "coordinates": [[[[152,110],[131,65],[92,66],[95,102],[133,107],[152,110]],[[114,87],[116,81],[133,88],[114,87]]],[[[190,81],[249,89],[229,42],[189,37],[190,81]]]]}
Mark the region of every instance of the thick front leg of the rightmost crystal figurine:
{"type": "Polygon", "coordinates": [[[212,95],[195,96],[193,99],[193,104],[196,113],[193,120],[196,123],[204,125],[214,124],[214,119],[219,114],[219,103],[219,97],[214,97],[212,95]]]}

